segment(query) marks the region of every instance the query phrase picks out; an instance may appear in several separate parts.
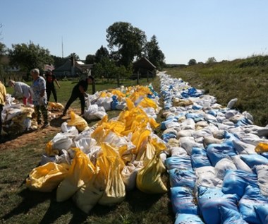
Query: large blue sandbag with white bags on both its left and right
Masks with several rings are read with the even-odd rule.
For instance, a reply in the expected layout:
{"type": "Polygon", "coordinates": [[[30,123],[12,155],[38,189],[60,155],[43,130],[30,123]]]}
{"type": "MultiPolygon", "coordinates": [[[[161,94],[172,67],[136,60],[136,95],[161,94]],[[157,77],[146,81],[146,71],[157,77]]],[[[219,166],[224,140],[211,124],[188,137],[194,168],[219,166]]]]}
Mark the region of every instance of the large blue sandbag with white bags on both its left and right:
{"type": "Polygon", "coordinates": [[[244,170],[226,170],[221,190],[224,194],[237,194],[241,197],[248,185],[258,187],[255,173],[244,170]]]}

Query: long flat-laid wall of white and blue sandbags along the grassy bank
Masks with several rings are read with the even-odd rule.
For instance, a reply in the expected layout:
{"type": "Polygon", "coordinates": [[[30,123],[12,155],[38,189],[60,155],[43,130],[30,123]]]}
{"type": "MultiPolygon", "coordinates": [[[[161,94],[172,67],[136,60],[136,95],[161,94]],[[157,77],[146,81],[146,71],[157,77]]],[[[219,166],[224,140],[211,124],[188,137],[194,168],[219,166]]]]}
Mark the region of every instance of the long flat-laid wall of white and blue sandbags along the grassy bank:
{"type": "Polygon", "coordinates": [[[159,74],[175,223],[268,223],[268,126],[159,74]],[[258,152],[258,153],[257,153],[258,152]]]}

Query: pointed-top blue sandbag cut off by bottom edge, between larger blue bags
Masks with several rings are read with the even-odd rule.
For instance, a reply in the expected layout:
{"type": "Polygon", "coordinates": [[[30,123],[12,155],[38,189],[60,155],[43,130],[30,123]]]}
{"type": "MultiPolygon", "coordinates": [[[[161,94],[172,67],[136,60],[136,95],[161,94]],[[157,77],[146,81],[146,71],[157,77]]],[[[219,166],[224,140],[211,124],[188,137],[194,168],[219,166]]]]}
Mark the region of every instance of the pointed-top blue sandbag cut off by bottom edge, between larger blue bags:
{"type": "Polygon", "coordinates": [[[219,208],[221,212],[221,224],[248,224],[243,220],[239,211],[228,209],[223,206],[219,208]]]}

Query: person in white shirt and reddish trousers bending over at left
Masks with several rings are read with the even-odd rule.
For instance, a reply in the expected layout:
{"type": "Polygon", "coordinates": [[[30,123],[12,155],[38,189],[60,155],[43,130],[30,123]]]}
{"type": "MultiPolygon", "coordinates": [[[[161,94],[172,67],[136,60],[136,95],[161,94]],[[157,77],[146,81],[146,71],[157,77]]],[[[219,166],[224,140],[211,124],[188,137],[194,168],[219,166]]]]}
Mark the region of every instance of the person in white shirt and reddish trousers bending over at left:
{"type": "Polygon", "coordinates": [[[23,98],[24,105],[28,105],[28,103],[32,104],[30,86],[28,86],[26,83],[16,82],[13,80],[10,80],[8,82],[8,86],[11,86],[14,88],[14,92],[11,95],[13,98],[23,98]]]}

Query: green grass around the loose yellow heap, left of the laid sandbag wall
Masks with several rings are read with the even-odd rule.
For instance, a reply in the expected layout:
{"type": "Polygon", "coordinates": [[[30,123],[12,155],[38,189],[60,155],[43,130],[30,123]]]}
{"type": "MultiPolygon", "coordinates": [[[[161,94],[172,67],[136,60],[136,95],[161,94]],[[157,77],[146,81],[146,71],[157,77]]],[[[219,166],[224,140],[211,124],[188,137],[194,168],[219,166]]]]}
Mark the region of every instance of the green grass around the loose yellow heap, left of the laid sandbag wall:
{"type": "MultiPolygon", "coordinates": [[[[154,89],[159,92],[159,79],[151,80],[154,89]]],[[[60,81],[58,90],[59,102],[65,105],[75,83],[60,81]]],[[[146,85],[147,79],[140,81],[146,85]]],[[[135,81],[122,83],[123,86],[135,86],[135,81]]],[[[116,88],[116,82],[98,83],[97,90],[116,88]]],[[[12,93],[11,88],[7,88],[12,93]]],[[[87,93],[91,92],[91,88],[87,93]]],[[[53,99],[53,97],[51,98],[53,99]]],[[[53,101],[53,100],[51,100],[53,101]]],[[[72,107],[80,108],[79,100],[72,107]]],[[[107,112],[109,119],[116,117],[120,111],[107,112]]],[[[158,122],[162,118],[159,116],[158,122]]],[[[95,124],[95,121],[89,125],[95,124]]],[[[156,130],[157,134],[161,131],[156,130]]],[[[56,202],[56,190],[51,193],[30,191],[25,187],[25,178],[30,171],[39,165],[45,146],[57,131],[40,136],[20,148],[7,148],[0,151],[0,223],[99,223],[99,224],[142,224],[142,223],[174,223],[169,194],[144,194],[138,189],[129,191],[126,199],[116,206],[95,206],[87,215],[80,211],[70,199],[56,202]]],[[[1,147],[1,144],[0,144],[1,147]]],[[[167,175],[164,182],[168,186],[167,175]]]]}

